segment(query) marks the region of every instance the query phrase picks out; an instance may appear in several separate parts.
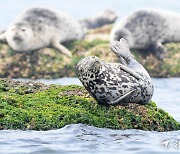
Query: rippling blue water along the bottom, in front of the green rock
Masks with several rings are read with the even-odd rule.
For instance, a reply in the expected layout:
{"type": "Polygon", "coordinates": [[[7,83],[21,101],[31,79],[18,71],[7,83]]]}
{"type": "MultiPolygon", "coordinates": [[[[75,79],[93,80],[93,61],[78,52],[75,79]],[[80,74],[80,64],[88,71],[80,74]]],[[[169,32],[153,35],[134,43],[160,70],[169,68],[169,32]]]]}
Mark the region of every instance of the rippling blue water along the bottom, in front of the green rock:
{"type": "Polygon", "coordinates": [[[111,130],[82,124],[50,131],[0,131],[1,154],[180,153],[180,131],[111,130]],[[169,142],[168,146],[164,143],[169,142]]]}

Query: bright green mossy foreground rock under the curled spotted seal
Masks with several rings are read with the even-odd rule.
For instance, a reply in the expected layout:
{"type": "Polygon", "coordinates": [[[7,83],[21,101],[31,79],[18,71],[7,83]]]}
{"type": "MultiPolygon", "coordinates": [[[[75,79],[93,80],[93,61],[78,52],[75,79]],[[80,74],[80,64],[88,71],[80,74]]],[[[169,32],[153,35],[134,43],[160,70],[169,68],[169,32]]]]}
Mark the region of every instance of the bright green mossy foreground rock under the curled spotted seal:
{"type": "Polygon", "coordinates": [[[80,86],[0,79],[0,129],[50,130],[78,123],[121,130],[180,129],[154,102],[102,106],[80,86]]]}

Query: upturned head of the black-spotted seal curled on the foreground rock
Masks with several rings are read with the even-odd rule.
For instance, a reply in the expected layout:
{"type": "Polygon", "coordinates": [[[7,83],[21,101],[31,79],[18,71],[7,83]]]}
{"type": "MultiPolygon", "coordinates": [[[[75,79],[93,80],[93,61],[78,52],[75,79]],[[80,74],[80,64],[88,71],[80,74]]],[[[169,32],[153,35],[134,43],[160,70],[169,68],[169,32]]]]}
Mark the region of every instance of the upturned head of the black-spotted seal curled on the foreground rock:
{"type": "Polygon", "coordinates": [[[82,59],[77,64],[77,75],[85,87],[88,86],[88,81],[95,79],[98,76],[103,62],[96,56],[90,56],[82,59]]]}

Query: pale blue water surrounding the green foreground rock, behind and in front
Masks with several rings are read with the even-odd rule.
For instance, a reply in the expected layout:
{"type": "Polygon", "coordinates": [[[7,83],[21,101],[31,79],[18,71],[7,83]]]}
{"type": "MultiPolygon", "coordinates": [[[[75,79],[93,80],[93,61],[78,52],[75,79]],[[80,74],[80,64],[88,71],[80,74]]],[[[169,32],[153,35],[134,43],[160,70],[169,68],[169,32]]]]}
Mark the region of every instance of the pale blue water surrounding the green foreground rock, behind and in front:
{"type": "MultiPolygon", "coordinates": [[[[20,79],[23,80],[23,79],[20,79]]],[[[77,78],[39,79],[45,84],[77,84],[77,78]]],[[[180,78],[153,79],[153,100],[180,121],[180,78]]],[[[49,131],[0,131],[0,154],[180,153],[180,131],[111,130],[68,125],[49,131]]]]}

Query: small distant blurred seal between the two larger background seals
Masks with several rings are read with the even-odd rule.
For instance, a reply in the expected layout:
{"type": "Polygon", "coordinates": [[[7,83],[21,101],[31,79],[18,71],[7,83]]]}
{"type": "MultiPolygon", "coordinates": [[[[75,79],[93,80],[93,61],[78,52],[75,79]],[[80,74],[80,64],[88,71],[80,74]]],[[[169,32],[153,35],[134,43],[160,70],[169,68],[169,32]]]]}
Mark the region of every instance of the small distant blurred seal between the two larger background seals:
{"type": "Polygon", "coordinates": [[[97,15],[93,17],[81,20],[80,23],[88,29],[94,29],[107,24],[112,24],[116,21],[116,19],[117,14],[114,11],[105,10],[103,12],[99,12],[97,15]]]}

